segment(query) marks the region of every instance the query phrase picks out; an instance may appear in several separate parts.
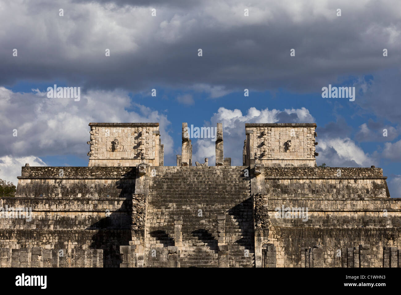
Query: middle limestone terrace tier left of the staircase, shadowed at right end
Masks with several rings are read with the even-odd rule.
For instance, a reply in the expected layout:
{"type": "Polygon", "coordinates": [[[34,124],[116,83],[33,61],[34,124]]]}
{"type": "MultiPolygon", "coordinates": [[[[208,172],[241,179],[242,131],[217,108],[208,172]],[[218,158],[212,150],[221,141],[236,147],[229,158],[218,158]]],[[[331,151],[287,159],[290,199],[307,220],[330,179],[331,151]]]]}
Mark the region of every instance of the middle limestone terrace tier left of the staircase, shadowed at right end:
{"type": "Polygon", "coordinates": [[[130,229],[132,200],[124,198],[3,198],[0,228],[16,230],[130,229]],[[24,210],[23,217],[13,214],[24,210]],[[8,210],[8,212],[7,212],[8,210]],[[8,213],[8,214],[7,214],[8,213]]]}

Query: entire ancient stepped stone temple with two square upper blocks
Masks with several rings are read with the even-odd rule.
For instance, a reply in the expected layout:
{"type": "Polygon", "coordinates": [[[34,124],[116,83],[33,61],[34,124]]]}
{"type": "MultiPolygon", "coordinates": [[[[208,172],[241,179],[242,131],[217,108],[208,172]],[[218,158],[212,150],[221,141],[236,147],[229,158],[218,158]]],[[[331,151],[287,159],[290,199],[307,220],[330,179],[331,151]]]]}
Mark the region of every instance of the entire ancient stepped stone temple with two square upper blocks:
{"type": "Polygon", "coordinates": [[[158,123],[89,126],[88,167],[27,164],[0,199],[0,266],[401,267],[401,199],[380,168],[317,167],[316,124],[245,124],[243,166],[222,124],[195,166],[186,123],[177,166],[158,123]]]}

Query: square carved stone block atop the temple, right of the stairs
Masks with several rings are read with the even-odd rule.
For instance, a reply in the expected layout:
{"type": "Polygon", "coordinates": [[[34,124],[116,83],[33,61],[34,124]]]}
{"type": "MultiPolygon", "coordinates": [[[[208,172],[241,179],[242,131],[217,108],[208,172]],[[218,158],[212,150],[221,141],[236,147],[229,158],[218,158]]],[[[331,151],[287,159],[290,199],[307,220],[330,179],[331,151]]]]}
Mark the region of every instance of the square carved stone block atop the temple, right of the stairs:
{"type": "Polygon", "coordinates": [[[316,124],[245,124],[243,165],[316,167],[316,124]]]}

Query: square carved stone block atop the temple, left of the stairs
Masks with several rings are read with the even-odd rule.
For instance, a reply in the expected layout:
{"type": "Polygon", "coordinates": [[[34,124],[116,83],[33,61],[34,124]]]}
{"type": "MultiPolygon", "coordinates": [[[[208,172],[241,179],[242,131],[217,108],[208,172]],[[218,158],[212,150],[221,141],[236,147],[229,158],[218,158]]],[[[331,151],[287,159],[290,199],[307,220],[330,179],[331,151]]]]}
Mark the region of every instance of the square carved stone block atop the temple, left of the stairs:
{"type": "Polygon", "coordinates": [[[89,123],[89,166],[163,166],[159,123],[89,123]]]}

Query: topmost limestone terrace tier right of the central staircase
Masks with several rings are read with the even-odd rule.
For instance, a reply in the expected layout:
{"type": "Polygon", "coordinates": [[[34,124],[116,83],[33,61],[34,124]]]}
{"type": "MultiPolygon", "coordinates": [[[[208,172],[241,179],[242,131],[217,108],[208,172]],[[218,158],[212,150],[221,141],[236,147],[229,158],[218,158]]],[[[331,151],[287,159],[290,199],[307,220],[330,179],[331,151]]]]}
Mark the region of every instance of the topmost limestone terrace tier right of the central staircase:
{"type": "Polygon", "coordinates": [[[263,192],[270,197],[390,197],[381,168],[265,167],[263,171],[263,192]]]}

